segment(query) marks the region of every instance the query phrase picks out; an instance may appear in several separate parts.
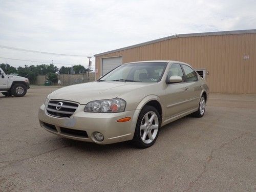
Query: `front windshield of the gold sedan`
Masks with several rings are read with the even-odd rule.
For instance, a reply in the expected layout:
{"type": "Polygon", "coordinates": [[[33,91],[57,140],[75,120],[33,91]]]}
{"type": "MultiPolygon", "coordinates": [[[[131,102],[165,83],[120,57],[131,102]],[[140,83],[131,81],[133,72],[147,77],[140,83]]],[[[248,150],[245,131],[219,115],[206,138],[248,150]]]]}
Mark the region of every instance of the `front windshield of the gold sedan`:
{"type": "Polygon", "coordinates": [[[119,66],[98,81],[158,82],[167,62],[138,62],[119,66]]]}

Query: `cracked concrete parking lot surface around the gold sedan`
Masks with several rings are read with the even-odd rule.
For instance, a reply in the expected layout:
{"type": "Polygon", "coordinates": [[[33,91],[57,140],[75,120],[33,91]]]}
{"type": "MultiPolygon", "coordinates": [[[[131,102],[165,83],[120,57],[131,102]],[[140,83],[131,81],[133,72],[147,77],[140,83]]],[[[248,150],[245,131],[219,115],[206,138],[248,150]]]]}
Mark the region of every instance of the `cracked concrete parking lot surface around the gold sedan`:
{"type": "Polygon", "coordinates": [[[210,94],[203,118],[162,127],[140,150],[42,129],[37,111],[54,90],[0,94],[0,191],[256,190],[256,95],[210,94]]]}

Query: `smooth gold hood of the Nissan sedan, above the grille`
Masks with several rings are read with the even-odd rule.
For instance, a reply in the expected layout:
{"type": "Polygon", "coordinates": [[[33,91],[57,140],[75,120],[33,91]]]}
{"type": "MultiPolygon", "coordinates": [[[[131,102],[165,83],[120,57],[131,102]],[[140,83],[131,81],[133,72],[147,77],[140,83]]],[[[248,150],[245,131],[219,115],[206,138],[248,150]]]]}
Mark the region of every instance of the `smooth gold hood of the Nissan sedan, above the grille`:
{"type": "Polygon", "coordinates": [[[69,100],[80,104],[101,99],[121,97],[123,94],[149,86],[152,83],[95,81],[76,84],[58,89],[50,94],[49,99],[69,100]]]}

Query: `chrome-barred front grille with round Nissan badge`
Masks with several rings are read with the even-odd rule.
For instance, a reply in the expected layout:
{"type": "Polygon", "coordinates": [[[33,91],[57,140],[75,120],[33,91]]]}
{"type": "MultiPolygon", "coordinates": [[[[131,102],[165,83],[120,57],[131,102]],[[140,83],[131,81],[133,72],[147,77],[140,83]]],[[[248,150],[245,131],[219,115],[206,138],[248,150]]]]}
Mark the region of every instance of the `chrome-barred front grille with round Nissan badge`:
{"type": "Polygon", "coordinates": [[[69,118],[78,108],[77,103],[68,101],[51,100],[47,105],[47,113],[49,115],[61,118],[69,118]]]}

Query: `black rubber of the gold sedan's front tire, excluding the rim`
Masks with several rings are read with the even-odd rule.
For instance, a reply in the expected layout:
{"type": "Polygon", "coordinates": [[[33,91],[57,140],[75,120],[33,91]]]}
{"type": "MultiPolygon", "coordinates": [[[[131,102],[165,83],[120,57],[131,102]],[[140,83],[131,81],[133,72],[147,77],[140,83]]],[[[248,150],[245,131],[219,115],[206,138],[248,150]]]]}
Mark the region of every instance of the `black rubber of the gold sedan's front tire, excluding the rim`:
{"type": "Polygon", "coordinates": [[[147,148],[147,147],[152,146],[158,138],[160,126],[161,126],[161,119],[160,119],[159,112],[156,110],[156,108],[154,108],[153,106],[150,106],[150,105],[144,106],[139,114],[138,119],[137,119],[136,128],[135,128],[134,137],[133,137],[133,143],[139,148],[147,148]],[[153,111],[156,113],[157,118],[158,118],[159,127],[158,127],[158,132],[157,132],[157,135],[156,135],[154,141],[147,144],[147,143],[144,143],[140,137],[140,124],[141,124],[141,121],[142,121],[144,115],[150,111],[153,111]]]}

